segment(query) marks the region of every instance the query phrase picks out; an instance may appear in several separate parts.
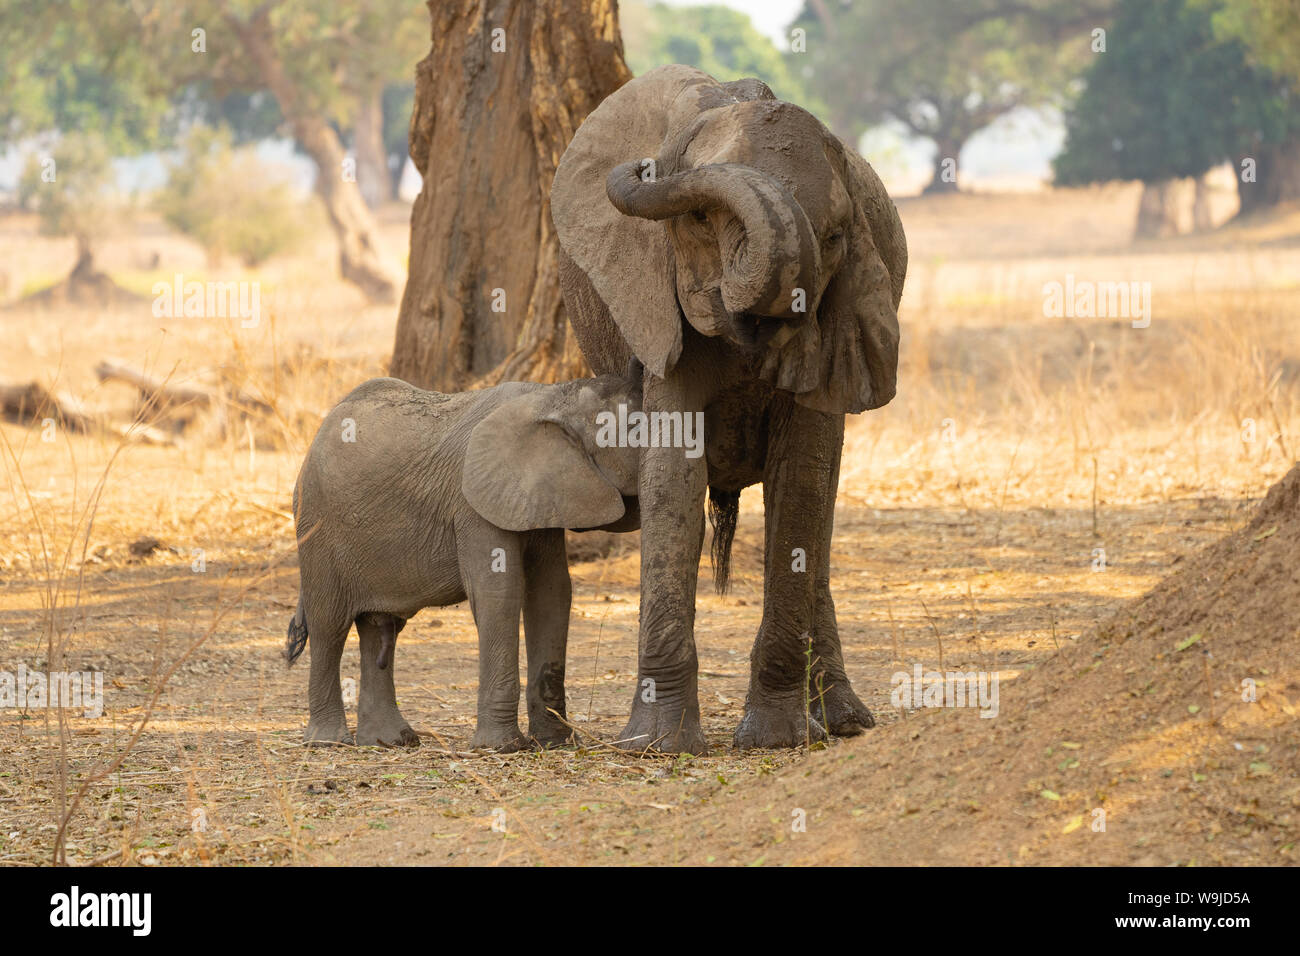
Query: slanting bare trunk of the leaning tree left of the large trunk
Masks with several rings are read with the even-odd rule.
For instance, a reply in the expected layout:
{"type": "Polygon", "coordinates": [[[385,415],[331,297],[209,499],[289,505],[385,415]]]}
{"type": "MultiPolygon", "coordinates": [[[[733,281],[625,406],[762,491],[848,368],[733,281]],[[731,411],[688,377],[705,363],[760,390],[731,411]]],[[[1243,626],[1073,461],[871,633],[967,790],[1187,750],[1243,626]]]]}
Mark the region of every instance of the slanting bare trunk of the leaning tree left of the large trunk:
{"type": "Polygon", "coordinates": [[[370,302],[393,302],[396,282],[380,255],[374,217],[356,183],[343,176],[346,153],[338,135],[322,116],[303,104],[285,72],[268,8],[261,7],[247,21],[234,14],[226,14],[226,20],[266,88],[280,103],[280,112],[289,121],[294,139],[316,164],[316,193],[338,235],[339,272],[370,302]]]}

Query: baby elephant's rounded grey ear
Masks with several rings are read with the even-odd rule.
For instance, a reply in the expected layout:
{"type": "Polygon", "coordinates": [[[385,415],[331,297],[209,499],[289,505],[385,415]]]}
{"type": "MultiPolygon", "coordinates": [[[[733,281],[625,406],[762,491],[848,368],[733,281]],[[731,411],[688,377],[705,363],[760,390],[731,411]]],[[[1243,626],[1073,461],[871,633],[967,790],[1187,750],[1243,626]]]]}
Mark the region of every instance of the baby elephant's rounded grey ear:
{"type": "Polygon", "coordinates": [[[619,489],[543,415],[543,399],[533,393],[474,425],[460,479],[465,501],[506,531],[597,528],[620,519],[619,489]]]}

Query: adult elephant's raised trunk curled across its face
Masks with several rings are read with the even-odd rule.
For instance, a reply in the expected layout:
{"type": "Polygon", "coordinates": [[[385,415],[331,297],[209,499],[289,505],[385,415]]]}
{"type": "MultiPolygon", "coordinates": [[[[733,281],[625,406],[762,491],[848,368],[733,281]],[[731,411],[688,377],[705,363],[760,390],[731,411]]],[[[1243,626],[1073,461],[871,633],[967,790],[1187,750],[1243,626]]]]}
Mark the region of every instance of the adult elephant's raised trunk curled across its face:
{"type": "Polygon", "coordinates": [[[646,179],[642,161],[632,161],[615,166],[604,191],[619,212],[640,219],[729,213],[738,228],[720,228],[718,242],[723,306],[733,316],[793,319],[815,308],[820,261],[812,226],[794,196],[766,173],[719,163],[646,179]]]}

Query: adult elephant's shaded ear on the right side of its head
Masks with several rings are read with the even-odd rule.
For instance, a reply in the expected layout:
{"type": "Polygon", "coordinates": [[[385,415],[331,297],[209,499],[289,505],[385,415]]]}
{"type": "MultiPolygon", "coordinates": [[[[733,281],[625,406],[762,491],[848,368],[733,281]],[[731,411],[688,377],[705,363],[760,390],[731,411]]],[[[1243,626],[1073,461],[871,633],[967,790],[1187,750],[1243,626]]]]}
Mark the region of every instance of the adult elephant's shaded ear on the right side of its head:
{"type": "Polygon", "coordinates": [[[898,378],[898,302],[907,274],[907,241],[898,209],[871,165],[842,151],[853,206],[844,261],[810,323],[770,359],[776,385],[794,401],[829,414],[879,408],[898,378]]]}

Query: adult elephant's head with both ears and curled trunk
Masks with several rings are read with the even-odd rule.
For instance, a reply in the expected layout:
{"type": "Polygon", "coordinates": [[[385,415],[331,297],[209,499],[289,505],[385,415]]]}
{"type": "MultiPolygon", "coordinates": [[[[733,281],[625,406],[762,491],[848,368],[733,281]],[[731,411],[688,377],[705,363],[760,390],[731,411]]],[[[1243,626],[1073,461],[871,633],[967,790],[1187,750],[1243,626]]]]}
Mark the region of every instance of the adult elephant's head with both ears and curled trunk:
{"type": "Polygon", "coordinates": [[[551,209],[628,346],[663,376],[681,319],[762,355],[827,412],[894,394],[907,251],[875,172],[755,79],[688,66],[633,79],[560,160],[551,209]]]}

